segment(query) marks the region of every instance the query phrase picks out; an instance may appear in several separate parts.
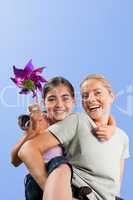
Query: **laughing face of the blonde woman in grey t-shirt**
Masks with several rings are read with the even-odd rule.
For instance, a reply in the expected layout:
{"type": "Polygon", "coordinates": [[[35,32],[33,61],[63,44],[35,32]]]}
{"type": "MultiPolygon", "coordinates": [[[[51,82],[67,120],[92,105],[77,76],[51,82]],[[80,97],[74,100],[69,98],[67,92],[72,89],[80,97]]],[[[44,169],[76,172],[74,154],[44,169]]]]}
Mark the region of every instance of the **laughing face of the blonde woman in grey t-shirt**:
{"type": "Polygon", "coordinates": [[[82,105],[95,122],[108,120],[114,96],[101,81],[90,79],[81,87],[82,105]]]}

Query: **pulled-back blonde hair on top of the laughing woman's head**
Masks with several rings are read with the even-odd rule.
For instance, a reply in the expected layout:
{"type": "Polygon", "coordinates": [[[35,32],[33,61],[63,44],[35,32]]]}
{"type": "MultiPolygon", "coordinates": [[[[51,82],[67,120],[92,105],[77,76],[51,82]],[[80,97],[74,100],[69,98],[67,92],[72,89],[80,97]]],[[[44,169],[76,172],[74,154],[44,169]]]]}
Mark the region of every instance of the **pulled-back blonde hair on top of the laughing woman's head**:
{"type": "Polygon", "coordinates": [[[85,81],[91,80],[91,79],[95,79],[99,82],[101,82],[103,84],[103,86],[109,91],[109,93],[113,93],[111,84],[109,83],[109,81],[101,74],[90,74],[88,76],[86,76],[83,81],[80,83],[80,88],[82,87],[82,85],[84,84],[85,81]]]}

